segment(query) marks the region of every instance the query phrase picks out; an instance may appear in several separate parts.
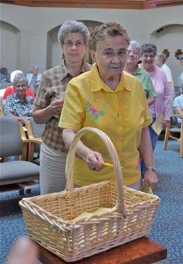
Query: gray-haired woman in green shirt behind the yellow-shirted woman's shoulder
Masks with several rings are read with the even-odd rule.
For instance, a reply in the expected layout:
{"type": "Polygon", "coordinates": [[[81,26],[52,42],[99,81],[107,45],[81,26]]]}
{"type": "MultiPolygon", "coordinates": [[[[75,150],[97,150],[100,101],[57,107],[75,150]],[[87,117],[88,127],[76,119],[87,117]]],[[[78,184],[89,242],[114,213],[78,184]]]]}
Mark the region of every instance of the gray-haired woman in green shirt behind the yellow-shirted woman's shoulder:
{"type": "Polygon", "coordinates": [[[137,77],[142,82],[147,103],[150,106],[156,99],[156,91],[151,81],[151,77],[146,70],[139,68],[138,61],[140,59],[141,46],[138,42],[131,41],[128,46],[128,57],[124,70],[137,77]]]}

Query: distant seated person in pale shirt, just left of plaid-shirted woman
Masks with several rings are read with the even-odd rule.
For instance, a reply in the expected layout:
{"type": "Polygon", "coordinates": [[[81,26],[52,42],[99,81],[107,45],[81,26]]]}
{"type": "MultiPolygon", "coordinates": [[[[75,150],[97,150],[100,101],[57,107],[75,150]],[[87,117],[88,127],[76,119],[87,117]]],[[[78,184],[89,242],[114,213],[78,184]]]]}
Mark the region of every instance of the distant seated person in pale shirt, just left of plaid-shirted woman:
{"type": "Polygon", "coordinates": [[[32,73],[27,73],[27,80],[29,84],[29,88],[32,89],[32,92],[36,95],[39,82],[41,81],[41,73],[39,73],[38,66],[34,66],[32,69],[32,73]]]}

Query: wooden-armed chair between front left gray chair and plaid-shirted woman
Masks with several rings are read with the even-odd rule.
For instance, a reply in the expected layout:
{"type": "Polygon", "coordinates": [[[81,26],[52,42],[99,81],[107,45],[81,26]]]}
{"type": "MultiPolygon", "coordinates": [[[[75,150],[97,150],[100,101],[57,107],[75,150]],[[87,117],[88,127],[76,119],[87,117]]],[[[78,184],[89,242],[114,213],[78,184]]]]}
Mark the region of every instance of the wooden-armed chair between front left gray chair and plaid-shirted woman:
{"type": "Polygon", "coordinates": [[[42,142],[41,134],[45,128],[45,124],[36,124],[31,118],[31,120],[26,125],[27,128],[27,137],[31,139],[29,142],[29,157],[28,161],[36,163],[39,165],[39,153],[40,145],[42,142]],[[37,158],[34,158],[34,153],[37,153],[37,158]]]}

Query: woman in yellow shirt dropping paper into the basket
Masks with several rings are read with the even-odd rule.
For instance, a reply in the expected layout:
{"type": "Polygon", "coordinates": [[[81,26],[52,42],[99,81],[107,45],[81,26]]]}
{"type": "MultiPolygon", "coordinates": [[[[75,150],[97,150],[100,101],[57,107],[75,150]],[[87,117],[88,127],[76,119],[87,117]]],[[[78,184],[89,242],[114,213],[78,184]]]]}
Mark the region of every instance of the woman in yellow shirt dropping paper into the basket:
{"type": "MultiPolygon", "coordinates": [[[[114,143],[123,166],[123,182],[140,189],[140,156],[146,165],[145,184],[156,188],[148,125],[151,114],[140,80],[123,72],[130,39],[117,23],[105,23],[90,34],[93,68],[72,79],[68,86],[59,126],[69,149],[72,139],[82,127],[96,127],[114,143]]],[[[115,180],[109,154],[95,134],[85,134],[76,149],[74,183],[88,185],[115,180]]]]}

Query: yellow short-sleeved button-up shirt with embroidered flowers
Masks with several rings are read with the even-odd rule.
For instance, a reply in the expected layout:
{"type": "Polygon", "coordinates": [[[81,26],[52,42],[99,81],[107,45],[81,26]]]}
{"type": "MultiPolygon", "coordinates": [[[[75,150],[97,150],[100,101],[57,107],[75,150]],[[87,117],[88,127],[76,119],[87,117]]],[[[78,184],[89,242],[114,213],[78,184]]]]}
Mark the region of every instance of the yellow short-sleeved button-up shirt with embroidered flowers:
{"type": "MultiPolygon", "coordinates": [[[[113,91],[100,78],[97,65],[94,65],[90,71],[69,82],[59,126],[76,131],[82,127],[96,127],[105,132],[116,148],[123,166],[123,183],[128,186],[140,180],[138,147],[142,128],[150,123],[151,114],[140,80],[123,72],[113,91]]],[[[111,162],[106,146],[95,134],[87,133],[81,141],[100,152],[105,162],[111,162]]],[[[91,171],[85,161],[75,158],[75,184],[88,185],[104,180],[115,181],[113,168],[91,171]]]]}

